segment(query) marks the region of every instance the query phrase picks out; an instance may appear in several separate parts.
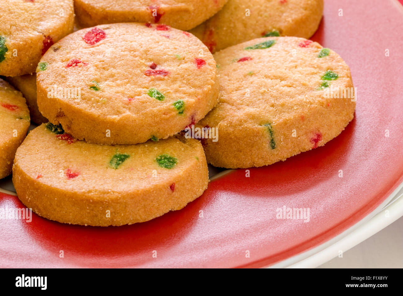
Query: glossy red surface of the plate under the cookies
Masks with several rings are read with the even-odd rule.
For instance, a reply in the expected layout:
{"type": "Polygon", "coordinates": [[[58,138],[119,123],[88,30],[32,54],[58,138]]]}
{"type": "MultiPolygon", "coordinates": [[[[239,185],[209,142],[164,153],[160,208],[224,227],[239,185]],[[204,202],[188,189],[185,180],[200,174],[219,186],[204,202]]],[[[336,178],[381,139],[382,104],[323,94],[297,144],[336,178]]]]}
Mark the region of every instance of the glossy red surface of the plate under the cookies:
{"type": "MultiPolygon", "coordinates": [[[[372,214],[403,182],[403,8],[396,0],[325,2],[312,39],[344,58],[358,93],[355,118],[339,137],[252,168],[249,178],[236,170],[181,211],[142,224],[96,228],[37,215],[31,223],[0,219],[0,266],[263,267],[317,247],[372,214]],[[277,219],[283,206],[310,208],[310,221],[277,219]]],[[[0,194],[5,207],[23,205],[0,194]]]]}

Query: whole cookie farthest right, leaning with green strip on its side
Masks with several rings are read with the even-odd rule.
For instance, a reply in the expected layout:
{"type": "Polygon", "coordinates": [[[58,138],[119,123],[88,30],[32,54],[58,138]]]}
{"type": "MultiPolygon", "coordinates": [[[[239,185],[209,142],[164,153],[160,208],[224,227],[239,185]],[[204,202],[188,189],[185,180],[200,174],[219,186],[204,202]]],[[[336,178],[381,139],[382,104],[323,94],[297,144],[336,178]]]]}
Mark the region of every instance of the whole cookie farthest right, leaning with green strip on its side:
{"type": "Polygon", "coordinates": [[[350,69],[316,42],[258,38],[214,57],[220,102],[196,125],[218,130],[218,141],[203,139],[213,166],[248,168],[285,160],[324,145],[353,119],[350,69]]]}

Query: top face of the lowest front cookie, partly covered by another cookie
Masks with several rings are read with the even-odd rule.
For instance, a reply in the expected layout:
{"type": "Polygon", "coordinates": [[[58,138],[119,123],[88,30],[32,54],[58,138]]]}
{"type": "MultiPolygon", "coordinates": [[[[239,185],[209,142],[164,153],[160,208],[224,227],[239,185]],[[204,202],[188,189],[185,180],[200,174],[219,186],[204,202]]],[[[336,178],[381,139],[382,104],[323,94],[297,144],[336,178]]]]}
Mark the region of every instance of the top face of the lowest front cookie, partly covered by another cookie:
{"type": "Polygon", "coordinates": [[[181,176],[203,161],[195,157],[202,151],[199,141],[179,136],[136,145],[90,144],[47,123],[29,132],[16,164],[29,178],[52,188],[118,197],[181,176]]]}

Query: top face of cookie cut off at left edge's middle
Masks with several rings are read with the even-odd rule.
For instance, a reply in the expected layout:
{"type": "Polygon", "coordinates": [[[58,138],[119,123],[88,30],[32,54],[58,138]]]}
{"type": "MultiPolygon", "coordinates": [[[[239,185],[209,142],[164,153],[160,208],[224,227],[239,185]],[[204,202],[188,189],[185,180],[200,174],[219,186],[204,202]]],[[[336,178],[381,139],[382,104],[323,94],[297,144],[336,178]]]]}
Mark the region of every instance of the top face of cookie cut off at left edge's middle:
{"type": "MultiPolygon", "coordinates": [[[[29,126],[29,110],[25,99],[6,81],[0,79],[0,145],[19,141],[15,131],[26,133],[29,126]]],[[[25,135],[24,135],[25,136],[25,135]]]]}

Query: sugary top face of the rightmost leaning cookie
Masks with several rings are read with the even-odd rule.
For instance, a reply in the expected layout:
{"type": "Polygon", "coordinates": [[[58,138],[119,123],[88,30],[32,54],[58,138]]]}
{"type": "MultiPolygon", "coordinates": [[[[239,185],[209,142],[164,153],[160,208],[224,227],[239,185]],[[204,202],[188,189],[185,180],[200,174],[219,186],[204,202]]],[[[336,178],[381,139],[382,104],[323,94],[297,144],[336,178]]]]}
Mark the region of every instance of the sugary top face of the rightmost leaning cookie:
{"type": "Polygon", "coordinates": [[[273,124],[323,103],[326,88],[351,83],[350,70],[334,51],[297,37],[253,39],[214,55],[220,102],[202,121],[273,124]]]}

